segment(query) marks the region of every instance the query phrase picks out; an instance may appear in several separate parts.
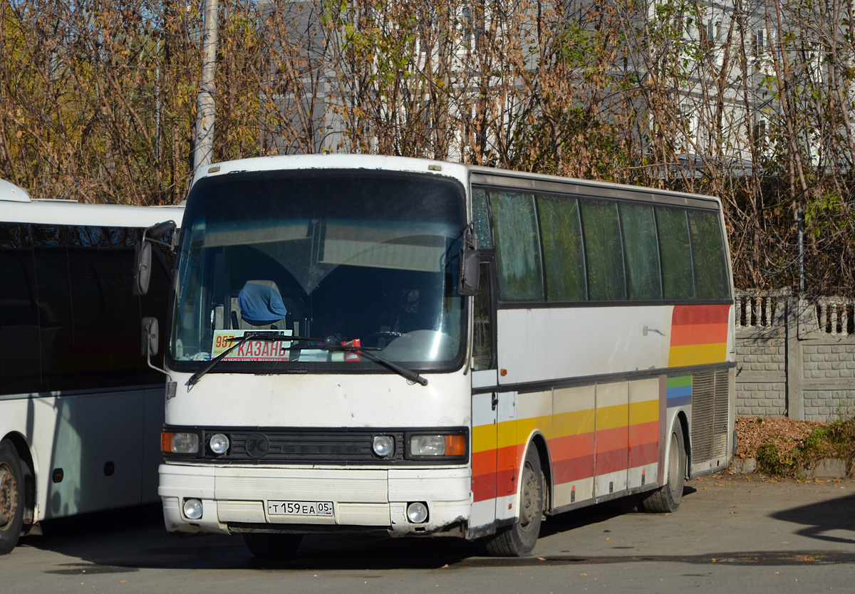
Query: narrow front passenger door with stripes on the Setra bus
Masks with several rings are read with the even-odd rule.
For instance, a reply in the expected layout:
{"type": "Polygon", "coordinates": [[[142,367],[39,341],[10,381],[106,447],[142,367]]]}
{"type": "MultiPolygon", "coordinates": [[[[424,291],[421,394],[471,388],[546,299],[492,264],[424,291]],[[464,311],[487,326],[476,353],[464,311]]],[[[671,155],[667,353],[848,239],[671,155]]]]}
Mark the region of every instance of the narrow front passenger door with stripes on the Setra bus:
{"type": "Polygon", "coordinates": [[[472,316],[472,513],[469,529],[496,520],[498,469],[498,368],[492,258],[481,255],[472,316]]]}

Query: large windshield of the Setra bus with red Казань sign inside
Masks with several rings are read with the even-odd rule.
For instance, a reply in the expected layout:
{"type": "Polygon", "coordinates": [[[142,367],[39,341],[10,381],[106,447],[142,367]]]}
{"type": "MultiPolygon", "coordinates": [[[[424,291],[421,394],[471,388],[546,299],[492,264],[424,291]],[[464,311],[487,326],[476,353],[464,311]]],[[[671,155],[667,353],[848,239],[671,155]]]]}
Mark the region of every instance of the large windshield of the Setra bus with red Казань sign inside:
{"type": "Polygon", "coordinates": [[[181,236],[171,364],[198,370],[247,332],[278,332],[295,340],[241,341],[214,371],[385,370],[376,356],[459,367],[463,196],[450,179],[362,169],[200,180],[181,236]]]}

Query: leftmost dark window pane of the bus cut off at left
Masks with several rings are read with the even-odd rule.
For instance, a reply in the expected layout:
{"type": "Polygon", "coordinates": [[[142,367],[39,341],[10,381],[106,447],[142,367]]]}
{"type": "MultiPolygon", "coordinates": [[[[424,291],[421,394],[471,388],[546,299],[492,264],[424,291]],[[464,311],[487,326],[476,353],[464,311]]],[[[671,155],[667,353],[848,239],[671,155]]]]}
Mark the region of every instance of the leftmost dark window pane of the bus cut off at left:
{"type": "Polygon", "coordinates": [[[0,224],[0,395],[38,391],[38,307],[28,225],[0,224]]]}

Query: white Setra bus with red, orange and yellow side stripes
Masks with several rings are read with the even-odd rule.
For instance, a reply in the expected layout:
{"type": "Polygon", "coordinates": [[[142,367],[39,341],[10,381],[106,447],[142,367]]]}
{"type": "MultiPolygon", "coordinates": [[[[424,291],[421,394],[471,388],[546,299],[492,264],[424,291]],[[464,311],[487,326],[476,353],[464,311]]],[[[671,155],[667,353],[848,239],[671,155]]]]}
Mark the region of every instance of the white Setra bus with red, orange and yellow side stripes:
{"type": "Polygon", "coordinates": [[[180,245],[171,532],[261,557],[335,530],[521,556],[543,516],[629,495],[671,511],[733,455],[714,197],[276,156],[198,173],[180,245]]]}

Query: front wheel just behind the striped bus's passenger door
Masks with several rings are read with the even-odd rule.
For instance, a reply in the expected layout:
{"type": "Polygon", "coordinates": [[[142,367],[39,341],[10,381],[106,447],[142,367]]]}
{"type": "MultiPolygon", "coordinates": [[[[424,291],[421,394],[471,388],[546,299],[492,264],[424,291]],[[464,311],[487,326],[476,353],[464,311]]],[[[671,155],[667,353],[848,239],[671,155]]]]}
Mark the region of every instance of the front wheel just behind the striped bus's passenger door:
{"type": "Polygon", "coordinates": [[[540,456],[533,445],[528,447],[526,461],[520,476],[520,518],[513,526],[502,528],[495,536],[486,539],[486,550],[492,556],[522,557],[534,549],[540,535],[543,517],[544,479],[540,456]]]}

